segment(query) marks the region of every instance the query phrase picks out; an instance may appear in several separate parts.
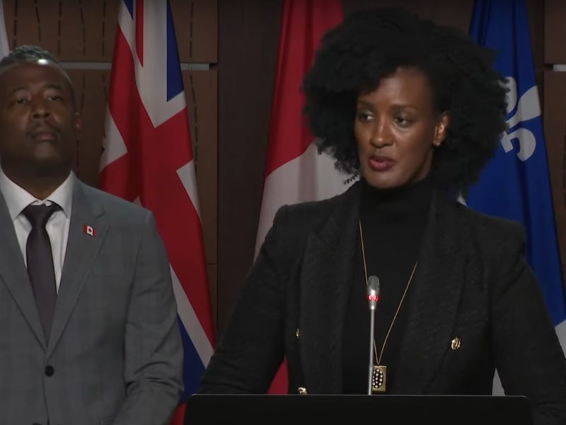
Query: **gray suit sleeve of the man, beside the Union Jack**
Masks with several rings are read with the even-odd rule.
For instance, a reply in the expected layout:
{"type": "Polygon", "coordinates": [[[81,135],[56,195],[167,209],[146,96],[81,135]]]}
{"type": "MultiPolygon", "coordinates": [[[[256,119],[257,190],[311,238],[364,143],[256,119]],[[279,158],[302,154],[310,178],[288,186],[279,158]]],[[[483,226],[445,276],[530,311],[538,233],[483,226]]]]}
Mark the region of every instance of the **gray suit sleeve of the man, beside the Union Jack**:
{"type": "Polygon", "coordinates": [[[125,333],[125,403],[114,425],[168,424],[183,390],[183,348],[168,256],[148,213],[125,333]]]}

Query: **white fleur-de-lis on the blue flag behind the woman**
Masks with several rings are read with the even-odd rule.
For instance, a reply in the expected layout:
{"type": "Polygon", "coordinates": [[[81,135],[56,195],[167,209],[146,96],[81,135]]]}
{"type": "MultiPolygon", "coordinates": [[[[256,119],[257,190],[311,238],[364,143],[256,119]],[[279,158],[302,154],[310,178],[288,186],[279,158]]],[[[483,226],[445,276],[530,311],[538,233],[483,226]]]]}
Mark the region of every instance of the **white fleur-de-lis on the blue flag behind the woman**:
{"type": "Polygon", "coordinates": [[[541,103],[538,101],[538,90],[536,86],[532,86],[525,91],[523,96],[519,98],[517,105],[517,84],[513,77],[507,77],[507,113],[511,113],[516,106],[516,112],[507,120],[508,132],[504,132],[501,137],[501,145],[505,152],[513,150],[512,140],[519,141],[519,152],[517,157],[521,161],[526,161],[535,152],[536,137],[531,130],[526,128],[517,128],[512,131],[516,125],[521,122],[531,120],[541,115],[541,103]]]}

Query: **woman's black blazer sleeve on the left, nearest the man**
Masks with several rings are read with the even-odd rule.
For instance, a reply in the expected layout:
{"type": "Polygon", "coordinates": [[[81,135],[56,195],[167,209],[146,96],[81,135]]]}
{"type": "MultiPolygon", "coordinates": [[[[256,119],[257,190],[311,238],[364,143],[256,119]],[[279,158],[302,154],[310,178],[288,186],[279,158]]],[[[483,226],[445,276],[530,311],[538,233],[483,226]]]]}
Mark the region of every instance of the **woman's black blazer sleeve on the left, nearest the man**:
{"type": "Polygon", "coordinates": [[[202,393],[267,392],[284,356],[284,270],[279,210],[205,370],[202,393]]]}

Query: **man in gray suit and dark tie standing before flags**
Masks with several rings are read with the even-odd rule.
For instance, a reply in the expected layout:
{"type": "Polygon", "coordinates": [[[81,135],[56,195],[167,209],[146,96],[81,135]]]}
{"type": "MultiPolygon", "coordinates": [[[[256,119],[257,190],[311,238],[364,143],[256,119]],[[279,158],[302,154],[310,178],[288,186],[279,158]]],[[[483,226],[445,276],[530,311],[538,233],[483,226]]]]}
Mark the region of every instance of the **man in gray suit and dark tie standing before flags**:
{"type": "Polygon", "coordinates": [[[182,391],[168,257],[151,212],[76,179],[80,127],[49,52],[0,61],[0,424],[166,424],[182,391]]]}

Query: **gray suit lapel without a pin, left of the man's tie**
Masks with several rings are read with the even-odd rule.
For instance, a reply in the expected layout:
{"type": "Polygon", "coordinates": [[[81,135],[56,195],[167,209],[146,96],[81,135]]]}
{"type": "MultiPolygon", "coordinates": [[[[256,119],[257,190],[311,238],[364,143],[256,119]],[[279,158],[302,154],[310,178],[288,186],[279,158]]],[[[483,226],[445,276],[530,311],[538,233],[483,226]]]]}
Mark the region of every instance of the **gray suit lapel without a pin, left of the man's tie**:
{"type": "Polygon", "coordinates": [[[6,200],[0,193],[0,278],[8,287],[16,305],[21,310],[37,341],[46,349],[45,334],[41,327],[35,297],[31,289],[28,272],[21,254],[16,231],[6,206],[6,200]]]}

